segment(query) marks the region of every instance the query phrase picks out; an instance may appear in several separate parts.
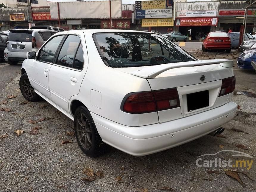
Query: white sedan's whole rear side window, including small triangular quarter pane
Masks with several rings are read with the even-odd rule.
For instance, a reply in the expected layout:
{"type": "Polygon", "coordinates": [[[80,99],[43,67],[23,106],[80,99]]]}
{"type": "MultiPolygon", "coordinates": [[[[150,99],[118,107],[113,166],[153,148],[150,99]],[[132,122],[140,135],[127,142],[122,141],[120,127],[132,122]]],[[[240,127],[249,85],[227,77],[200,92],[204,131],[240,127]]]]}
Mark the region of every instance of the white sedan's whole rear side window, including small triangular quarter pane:
{"type": "Polygon", "coordinates": [[[80,38],[76,35],[68,35],[60,50],[57,64],[65,67],[82,69],[83,55],[81,54],[83,53],[80,38]]]}

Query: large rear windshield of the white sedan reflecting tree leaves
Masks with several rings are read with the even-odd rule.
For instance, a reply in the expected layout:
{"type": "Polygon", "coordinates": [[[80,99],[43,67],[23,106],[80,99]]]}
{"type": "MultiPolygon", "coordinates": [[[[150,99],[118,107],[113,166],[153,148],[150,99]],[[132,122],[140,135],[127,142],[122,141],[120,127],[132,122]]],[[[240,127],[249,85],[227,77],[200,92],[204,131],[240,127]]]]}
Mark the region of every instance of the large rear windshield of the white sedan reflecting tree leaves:
{"type": "Polygon", "coordinates": [[[195,61],[195,57],[167,38],[152,33],[95,33],[93,39],[110,67],[137,67],[195,61]]]}

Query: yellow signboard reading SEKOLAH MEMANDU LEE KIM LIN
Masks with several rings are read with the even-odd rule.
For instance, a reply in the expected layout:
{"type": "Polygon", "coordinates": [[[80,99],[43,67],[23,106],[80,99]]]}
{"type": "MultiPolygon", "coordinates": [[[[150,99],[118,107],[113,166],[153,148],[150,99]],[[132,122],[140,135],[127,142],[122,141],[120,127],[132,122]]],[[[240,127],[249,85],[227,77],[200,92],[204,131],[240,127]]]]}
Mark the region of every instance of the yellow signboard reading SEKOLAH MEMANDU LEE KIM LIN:
{"type": "Polygon", "coordinates": [[[173,0],[135,1],[135,10],[172,9],[173,0]]]}

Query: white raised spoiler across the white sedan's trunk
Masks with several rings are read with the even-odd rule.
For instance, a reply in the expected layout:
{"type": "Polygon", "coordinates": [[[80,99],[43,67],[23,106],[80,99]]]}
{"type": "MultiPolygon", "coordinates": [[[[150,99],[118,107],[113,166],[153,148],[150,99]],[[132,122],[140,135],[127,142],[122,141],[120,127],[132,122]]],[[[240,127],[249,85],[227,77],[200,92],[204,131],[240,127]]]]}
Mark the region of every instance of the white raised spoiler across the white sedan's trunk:
{"type": "Polygon", "coordinates": [[[188,61],[182,63],[167,63],[162,65],[153,65],[150,67],[146,67],[143,69],[139,69],[137,71],[131,72],[132,75],[142,77],[145,79],[153,79],[157,77],[157,75],[174,68],[181,68],[181,67],[194,67],[200,65],[213,65],[219,64],[222,67],[232,68],[233,61],[227,59],[215,59],[215,60],[197,60],[197,61],[188,61]]]}

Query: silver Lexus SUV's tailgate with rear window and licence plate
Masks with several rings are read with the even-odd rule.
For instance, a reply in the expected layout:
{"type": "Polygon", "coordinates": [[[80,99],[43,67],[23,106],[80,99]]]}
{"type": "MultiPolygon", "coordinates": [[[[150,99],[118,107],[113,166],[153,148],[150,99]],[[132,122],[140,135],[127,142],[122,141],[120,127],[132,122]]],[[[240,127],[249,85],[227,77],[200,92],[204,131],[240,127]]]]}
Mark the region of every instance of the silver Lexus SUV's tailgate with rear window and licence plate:
{"type": "Polygon", "coordinates": [[[32,31],[10,30],[7,37],[7,49],[13,52],[29,52],[32,50],[32,31]]]}

